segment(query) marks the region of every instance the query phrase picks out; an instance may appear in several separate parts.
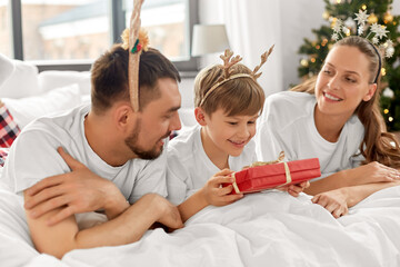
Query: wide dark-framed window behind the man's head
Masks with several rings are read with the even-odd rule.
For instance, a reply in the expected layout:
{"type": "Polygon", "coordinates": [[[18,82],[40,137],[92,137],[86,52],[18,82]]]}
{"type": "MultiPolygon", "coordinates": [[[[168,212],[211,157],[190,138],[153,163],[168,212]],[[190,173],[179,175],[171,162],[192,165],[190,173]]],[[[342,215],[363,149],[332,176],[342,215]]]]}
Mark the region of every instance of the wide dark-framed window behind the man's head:
{"type": "MultiPolygon", "coordinates": [[[[132,6],[133,0],[0,0],[0,38],[8,40],[0,52],[34,61],[40,70],[89,69],[129,26],[132,6]],[[3,13],[11,13],[10,27],[3,13]]],[[[146,0],[141,19],[150,46],[180,71],[197,70],[190,57],[197,0],[146,0]]]]}

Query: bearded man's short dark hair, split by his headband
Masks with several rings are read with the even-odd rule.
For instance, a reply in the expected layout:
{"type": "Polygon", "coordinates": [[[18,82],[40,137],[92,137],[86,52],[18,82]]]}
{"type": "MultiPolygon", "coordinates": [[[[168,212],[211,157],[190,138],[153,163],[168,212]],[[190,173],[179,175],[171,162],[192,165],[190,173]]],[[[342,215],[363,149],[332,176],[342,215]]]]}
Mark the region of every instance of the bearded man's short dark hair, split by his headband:
{"type": "MultiPolygon", "coordinates": [[[[128,83],[129,51],[114,44],[94,61],[91,69],[91,101],[94,112],[102,112],[118,100],[130,101],[128,83]]],[[[140,55],[139,106],[140,111],[150,101],[159,98],[158,79],[171,78],[177,82],[180,76],[172,62],[157,49],[149,48],[140,55]]]]}

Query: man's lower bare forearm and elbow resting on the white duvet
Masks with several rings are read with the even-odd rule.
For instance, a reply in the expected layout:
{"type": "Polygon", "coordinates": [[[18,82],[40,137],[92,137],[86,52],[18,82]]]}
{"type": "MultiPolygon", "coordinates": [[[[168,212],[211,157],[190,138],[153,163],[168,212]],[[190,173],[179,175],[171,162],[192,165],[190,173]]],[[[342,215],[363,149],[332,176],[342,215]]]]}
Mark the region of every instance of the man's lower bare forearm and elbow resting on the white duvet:
{"type": "MultiPolygon", "coordinates": [[[[24,197],[27,200],[30,199],[26,192],[24,197]]],[[[39,218],[27,215],[31,237],[38,251],[58,258],[76,248],[117,246],[137,241],[156,221],[172,229],[182,227],[178,209],[156,194],[143,196],[117,218],[81,231],[78,229],[74,216],[49,226],[47,220],[59,210],[60,208],[53,209],[39,218]]]]}

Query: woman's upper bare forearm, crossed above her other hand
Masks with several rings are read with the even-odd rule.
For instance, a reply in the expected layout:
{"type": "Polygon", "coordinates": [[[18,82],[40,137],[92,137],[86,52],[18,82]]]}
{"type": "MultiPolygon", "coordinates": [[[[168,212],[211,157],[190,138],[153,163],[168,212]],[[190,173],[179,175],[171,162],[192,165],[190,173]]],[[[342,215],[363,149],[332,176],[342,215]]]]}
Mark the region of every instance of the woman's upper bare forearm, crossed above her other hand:
{"type": "Polygon", "coordinates": [[[304,189],[304,192],[309,195],[317,195],[342,187],[383,181],[390,182],[399,179],[400,172],[397,169],[373,161],[353,169],[341,170],[323,179],[313,181],[309,188],[304,189]]]}

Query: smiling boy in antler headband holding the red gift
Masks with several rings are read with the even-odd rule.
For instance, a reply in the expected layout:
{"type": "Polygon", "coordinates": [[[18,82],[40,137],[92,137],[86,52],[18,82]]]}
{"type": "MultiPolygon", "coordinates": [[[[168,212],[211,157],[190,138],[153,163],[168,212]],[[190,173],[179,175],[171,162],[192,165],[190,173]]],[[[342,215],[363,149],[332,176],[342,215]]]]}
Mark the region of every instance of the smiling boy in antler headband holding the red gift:
{"type": "MultiPolygon", "coordinates": [[[[199,126],[174,138],[167,154],[167,187],[169,200],[178,206],[182,221],[208,205],[224,206],[243,195],[230,195],[230,174],[248,166],[256,158],[256,120],[262,111],[264,92],[257,82],[259,68],[253,71],[231,58],[227,50],[223,66],[206,68],[194,80],[194,116],[199,126]],[[209,179],[209,177],[211,177],[209,179]]],[[[301,186],[286,189],[293,196],[301,186]]]]}

